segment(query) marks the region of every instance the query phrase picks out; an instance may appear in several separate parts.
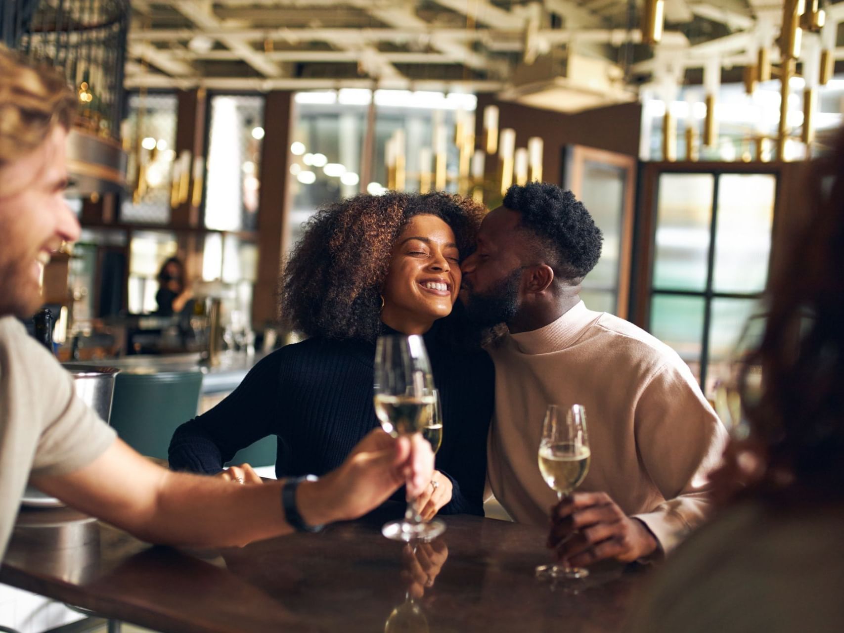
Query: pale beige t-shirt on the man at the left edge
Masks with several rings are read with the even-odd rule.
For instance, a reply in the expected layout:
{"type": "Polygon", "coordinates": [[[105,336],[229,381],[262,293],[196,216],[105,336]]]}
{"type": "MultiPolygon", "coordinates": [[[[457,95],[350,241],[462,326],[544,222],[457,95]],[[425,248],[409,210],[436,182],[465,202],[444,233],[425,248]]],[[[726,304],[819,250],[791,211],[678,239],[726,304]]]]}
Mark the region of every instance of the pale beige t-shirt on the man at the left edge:
{"type": "Polygon", "coordinates": [[[56,359],[14,317],[0,317],[0,560],[30,475],[72,473],[115,437],[56,359]]]}

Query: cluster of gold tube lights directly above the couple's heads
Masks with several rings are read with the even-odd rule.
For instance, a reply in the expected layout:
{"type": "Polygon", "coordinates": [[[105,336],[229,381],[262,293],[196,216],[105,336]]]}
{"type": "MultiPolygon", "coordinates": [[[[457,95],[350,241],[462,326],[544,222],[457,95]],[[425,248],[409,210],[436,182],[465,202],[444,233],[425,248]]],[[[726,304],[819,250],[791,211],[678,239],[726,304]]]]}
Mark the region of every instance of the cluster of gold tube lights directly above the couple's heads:
{"type": "MultiPolygon", "coordinates": [[[[516,130],[499,129],[498,106],[486,106],[483,114],[483,136],[475,144],[475,116],[457,111],[454,144],[457,147],[457,176],[446,171],[446,124],[435,117],[432,148],[419,149],[419,192],[445,191],[449,181],[457,181],[457,192],[484,201],[484,192],[504,195],[515,182],[525,185],[542,180],[544,143],[539,137],[527,139],[527,147],[516,147],[516,130]],[[487,156],[495,155],[495,181],[486,177],[487,156]]],[[[407,184],[406,142],[403,129],[396,130],[385,148],[387,188],[402,190],[407,184]]]]}

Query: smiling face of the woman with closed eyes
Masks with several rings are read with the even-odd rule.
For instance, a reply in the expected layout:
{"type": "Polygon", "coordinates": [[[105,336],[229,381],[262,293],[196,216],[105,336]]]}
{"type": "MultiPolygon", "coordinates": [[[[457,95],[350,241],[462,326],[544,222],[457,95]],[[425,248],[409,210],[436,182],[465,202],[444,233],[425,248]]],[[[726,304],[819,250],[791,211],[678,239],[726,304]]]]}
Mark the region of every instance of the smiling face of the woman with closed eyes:
{"type": "Polygon", "coordinates": [[[392,246],[381,288],[381,320],[403,333],[424,333],[452,312],[460,290],[454,231],[436,215],[414,215],[392,246]],[[410,331],[412,330],[412,331],[410,331]]]}

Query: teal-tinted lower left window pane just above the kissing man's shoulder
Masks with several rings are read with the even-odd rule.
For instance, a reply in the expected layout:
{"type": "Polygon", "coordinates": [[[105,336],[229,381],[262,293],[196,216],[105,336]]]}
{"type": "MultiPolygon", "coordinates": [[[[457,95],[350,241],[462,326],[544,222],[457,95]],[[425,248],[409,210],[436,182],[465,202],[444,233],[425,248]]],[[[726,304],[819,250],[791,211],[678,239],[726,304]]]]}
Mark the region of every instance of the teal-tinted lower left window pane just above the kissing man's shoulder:
{"type": "Polygon", "coordinates": [[[654,295],[651,303],[651,333],[674,348],[698,378],[705,309],[703,297],[654,295]]]}

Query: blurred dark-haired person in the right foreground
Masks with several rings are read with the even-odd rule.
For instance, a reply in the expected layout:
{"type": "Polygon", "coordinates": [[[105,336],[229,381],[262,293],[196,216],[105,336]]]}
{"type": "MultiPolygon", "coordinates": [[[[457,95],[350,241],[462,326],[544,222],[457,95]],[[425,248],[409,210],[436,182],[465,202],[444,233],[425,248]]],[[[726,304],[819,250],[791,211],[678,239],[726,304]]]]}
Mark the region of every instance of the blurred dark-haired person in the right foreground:
{"type": "Polygon", "coordinates": [[[633,630],[844,629],[844,132],[811,182],[744,359],[749,435],[713,473],[722,507],[654,579],[633,630]]]}

